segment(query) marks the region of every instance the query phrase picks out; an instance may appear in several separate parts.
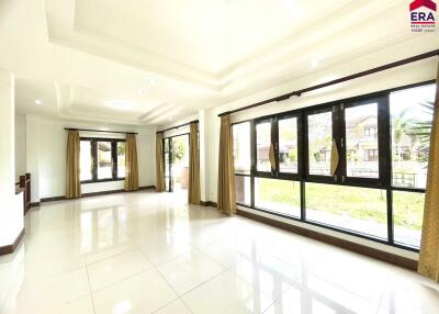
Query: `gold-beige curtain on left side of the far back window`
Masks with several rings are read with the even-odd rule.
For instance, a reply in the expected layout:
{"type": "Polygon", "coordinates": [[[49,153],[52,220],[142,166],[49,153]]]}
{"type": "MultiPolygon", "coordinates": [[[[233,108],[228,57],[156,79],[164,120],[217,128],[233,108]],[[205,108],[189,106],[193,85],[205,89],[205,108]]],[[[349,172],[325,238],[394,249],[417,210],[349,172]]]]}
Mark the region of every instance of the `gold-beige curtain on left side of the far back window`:
{"type": "Polygon", "coordinates": [[[81,180],[79,169],[79,132],[69,131],[67,137],[67,162],[66,162],[66,198],[75,199],[81,197],[81,180]]]}

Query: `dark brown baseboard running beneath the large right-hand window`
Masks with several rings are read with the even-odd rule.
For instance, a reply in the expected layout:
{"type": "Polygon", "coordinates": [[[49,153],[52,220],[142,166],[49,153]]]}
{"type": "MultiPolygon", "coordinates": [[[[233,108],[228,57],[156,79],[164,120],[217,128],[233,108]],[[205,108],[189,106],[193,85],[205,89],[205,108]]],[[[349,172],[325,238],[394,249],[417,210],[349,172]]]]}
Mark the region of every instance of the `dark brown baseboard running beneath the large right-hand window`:
{"type": "Polygon", "coordinates": [[[409,259],[403,256],[398,256],[389,251],[383,251],[376,248],[372,248],[372,247],[368,247],[358,243],[352,243],[350,240],[346,240],[346,239],[341,239],[335,236],[330,236],[330,235],[326,235],[326,234],[322,234],[319,232],[316,231],[311,231],[307,228],[303,228],[300,226],[295,226],[295,225],[291,225],[284,222],[279,222],[275,220],[271,220],[269,217],[264,217],[261,215],[257,215],[254,213],[249,213],[246,211],[241,211],[241,210],[237,210],[237,214],[245,216],[247,218],[254,220],[254,221],[258,221],[274,227],[279,227],[302,236],[306,236],[326,244],[330,244],[350,251],[354,251],[361,255],[365,255],[368,257],[372,257],[374,259],[379,259],[385,262],[390,262],[393,263],[395,266],[398,267],[403,267],[409,270],[414,270],[416,271],[418,268],[418,261],[414,260],[414,259],[409,259]]]}

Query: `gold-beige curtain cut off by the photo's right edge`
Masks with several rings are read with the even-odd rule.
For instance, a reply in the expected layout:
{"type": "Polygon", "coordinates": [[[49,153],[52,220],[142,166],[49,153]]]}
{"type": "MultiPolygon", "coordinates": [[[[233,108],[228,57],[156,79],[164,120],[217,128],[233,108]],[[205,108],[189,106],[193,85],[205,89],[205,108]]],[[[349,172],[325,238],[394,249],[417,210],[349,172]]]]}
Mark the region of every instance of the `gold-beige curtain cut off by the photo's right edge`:
{"type": "Polygon", "coordinates": [[[430,135],[427,190],[424,205],[423,239],[418,272],[439,282],[439,67],[430,135]]]}

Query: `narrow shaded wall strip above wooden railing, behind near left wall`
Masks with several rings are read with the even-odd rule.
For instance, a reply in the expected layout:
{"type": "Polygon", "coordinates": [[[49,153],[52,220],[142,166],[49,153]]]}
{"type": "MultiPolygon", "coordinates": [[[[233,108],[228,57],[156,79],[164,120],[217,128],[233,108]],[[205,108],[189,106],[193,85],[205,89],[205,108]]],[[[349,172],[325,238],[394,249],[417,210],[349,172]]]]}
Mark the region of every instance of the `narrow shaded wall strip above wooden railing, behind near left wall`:
{"type": "Polygon", "coordinates": [[[26,172],[26,116],[15,114],[15,182],[26,172]]]}

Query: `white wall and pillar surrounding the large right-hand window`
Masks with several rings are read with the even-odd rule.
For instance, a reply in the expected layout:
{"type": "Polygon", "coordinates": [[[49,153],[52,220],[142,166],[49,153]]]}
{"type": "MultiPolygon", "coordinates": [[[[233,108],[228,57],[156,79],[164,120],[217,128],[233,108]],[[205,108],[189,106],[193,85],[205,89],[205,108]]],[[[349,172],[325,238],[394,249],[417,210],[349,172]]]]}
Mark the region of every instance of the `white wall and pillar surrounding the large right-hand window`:
{"type": "MultiPolygon", "coordinates": [[[[219,124],[221,120],[217,116],[218,113],[234,110],[237,108],[246,106],[266,99],[271,99],[293,90],[299,90],[316,83],[322,83],[335,78],[344,77],[346,75],[354,74],[361,70],[367,70],[369,68],[376,67],[379,65],[386,64],[398,59],[396,56],[401,55],[401,52],[406,49],[406,47],[394,46],[387,49],[383,49],[374,53],[373,55],[368,55],[365,57],[358,58],[348,63],[339,64],[329,68],[322,68],[316,70],[312,75],[302,77],[294,81],[289,81],[279,85],[274,88],[267,90],[261,90],[257,93],[237,99],[235,101],[225,103],[223,105],[200,112],[200,121],[203,121],[204,136],[201,145],[204,145],[207,149],[206,158],[202,162],[201,167],[205,169],[204,184],[207,191],[205,192],[205,201],[216,202],[217,193],[217,165],[218,165],[218,145],[219,145],[219,124]],[[204,164],[204,165],[203,165],[204,164]]],[[[340,83],[334,87],[325,88],[315,92],[311,92],[302,96],[301,98],[291,98],[286,101],[274,102],[259,108],[241,111],[236,114],[232,114],[232,122],[239,122],[249,119],[255,119],[258,116],[263,116],[273,113],[285,112],[294,109],[311,106],[315,104],[326,103],[329,101],[340,100],[349,97],[361,96],[374,91],[385,90],[390,88],[406,86],[410,83],[421,82],[426,80],[436,79],[437,70],[437,58],[430,58],[428,60],[418,61],[412,65],[399,67],[396,69],[383,71],[381,74],[375,74],[373,76],[364,77],[361,79],[352,80],[349,82],[340,83]]],[[[243,209],[247,210],[247,209],[243,209]]],[[[270,216],[274,220],[282,220],[274,215],[262,214],[259,211],[251,211],[256,214],[270,216]]],[[[374,247],[378,249],[392,251],[402,256],[409,258],[417,258],[417,254],[409,253],[407,250],[391,248],[386,245],[381,245],[367,239],[359,239],[357,237],[350,237],[348,235],[330,232],[324,228],[309,226],[308,224],[291,222],[290,220],[282,220],[286,223],[297,224],[304,228],[318,229],[323,233],[329,233],[333,236],[352,240],[361,242],[363,245],[374,247]]]]}

